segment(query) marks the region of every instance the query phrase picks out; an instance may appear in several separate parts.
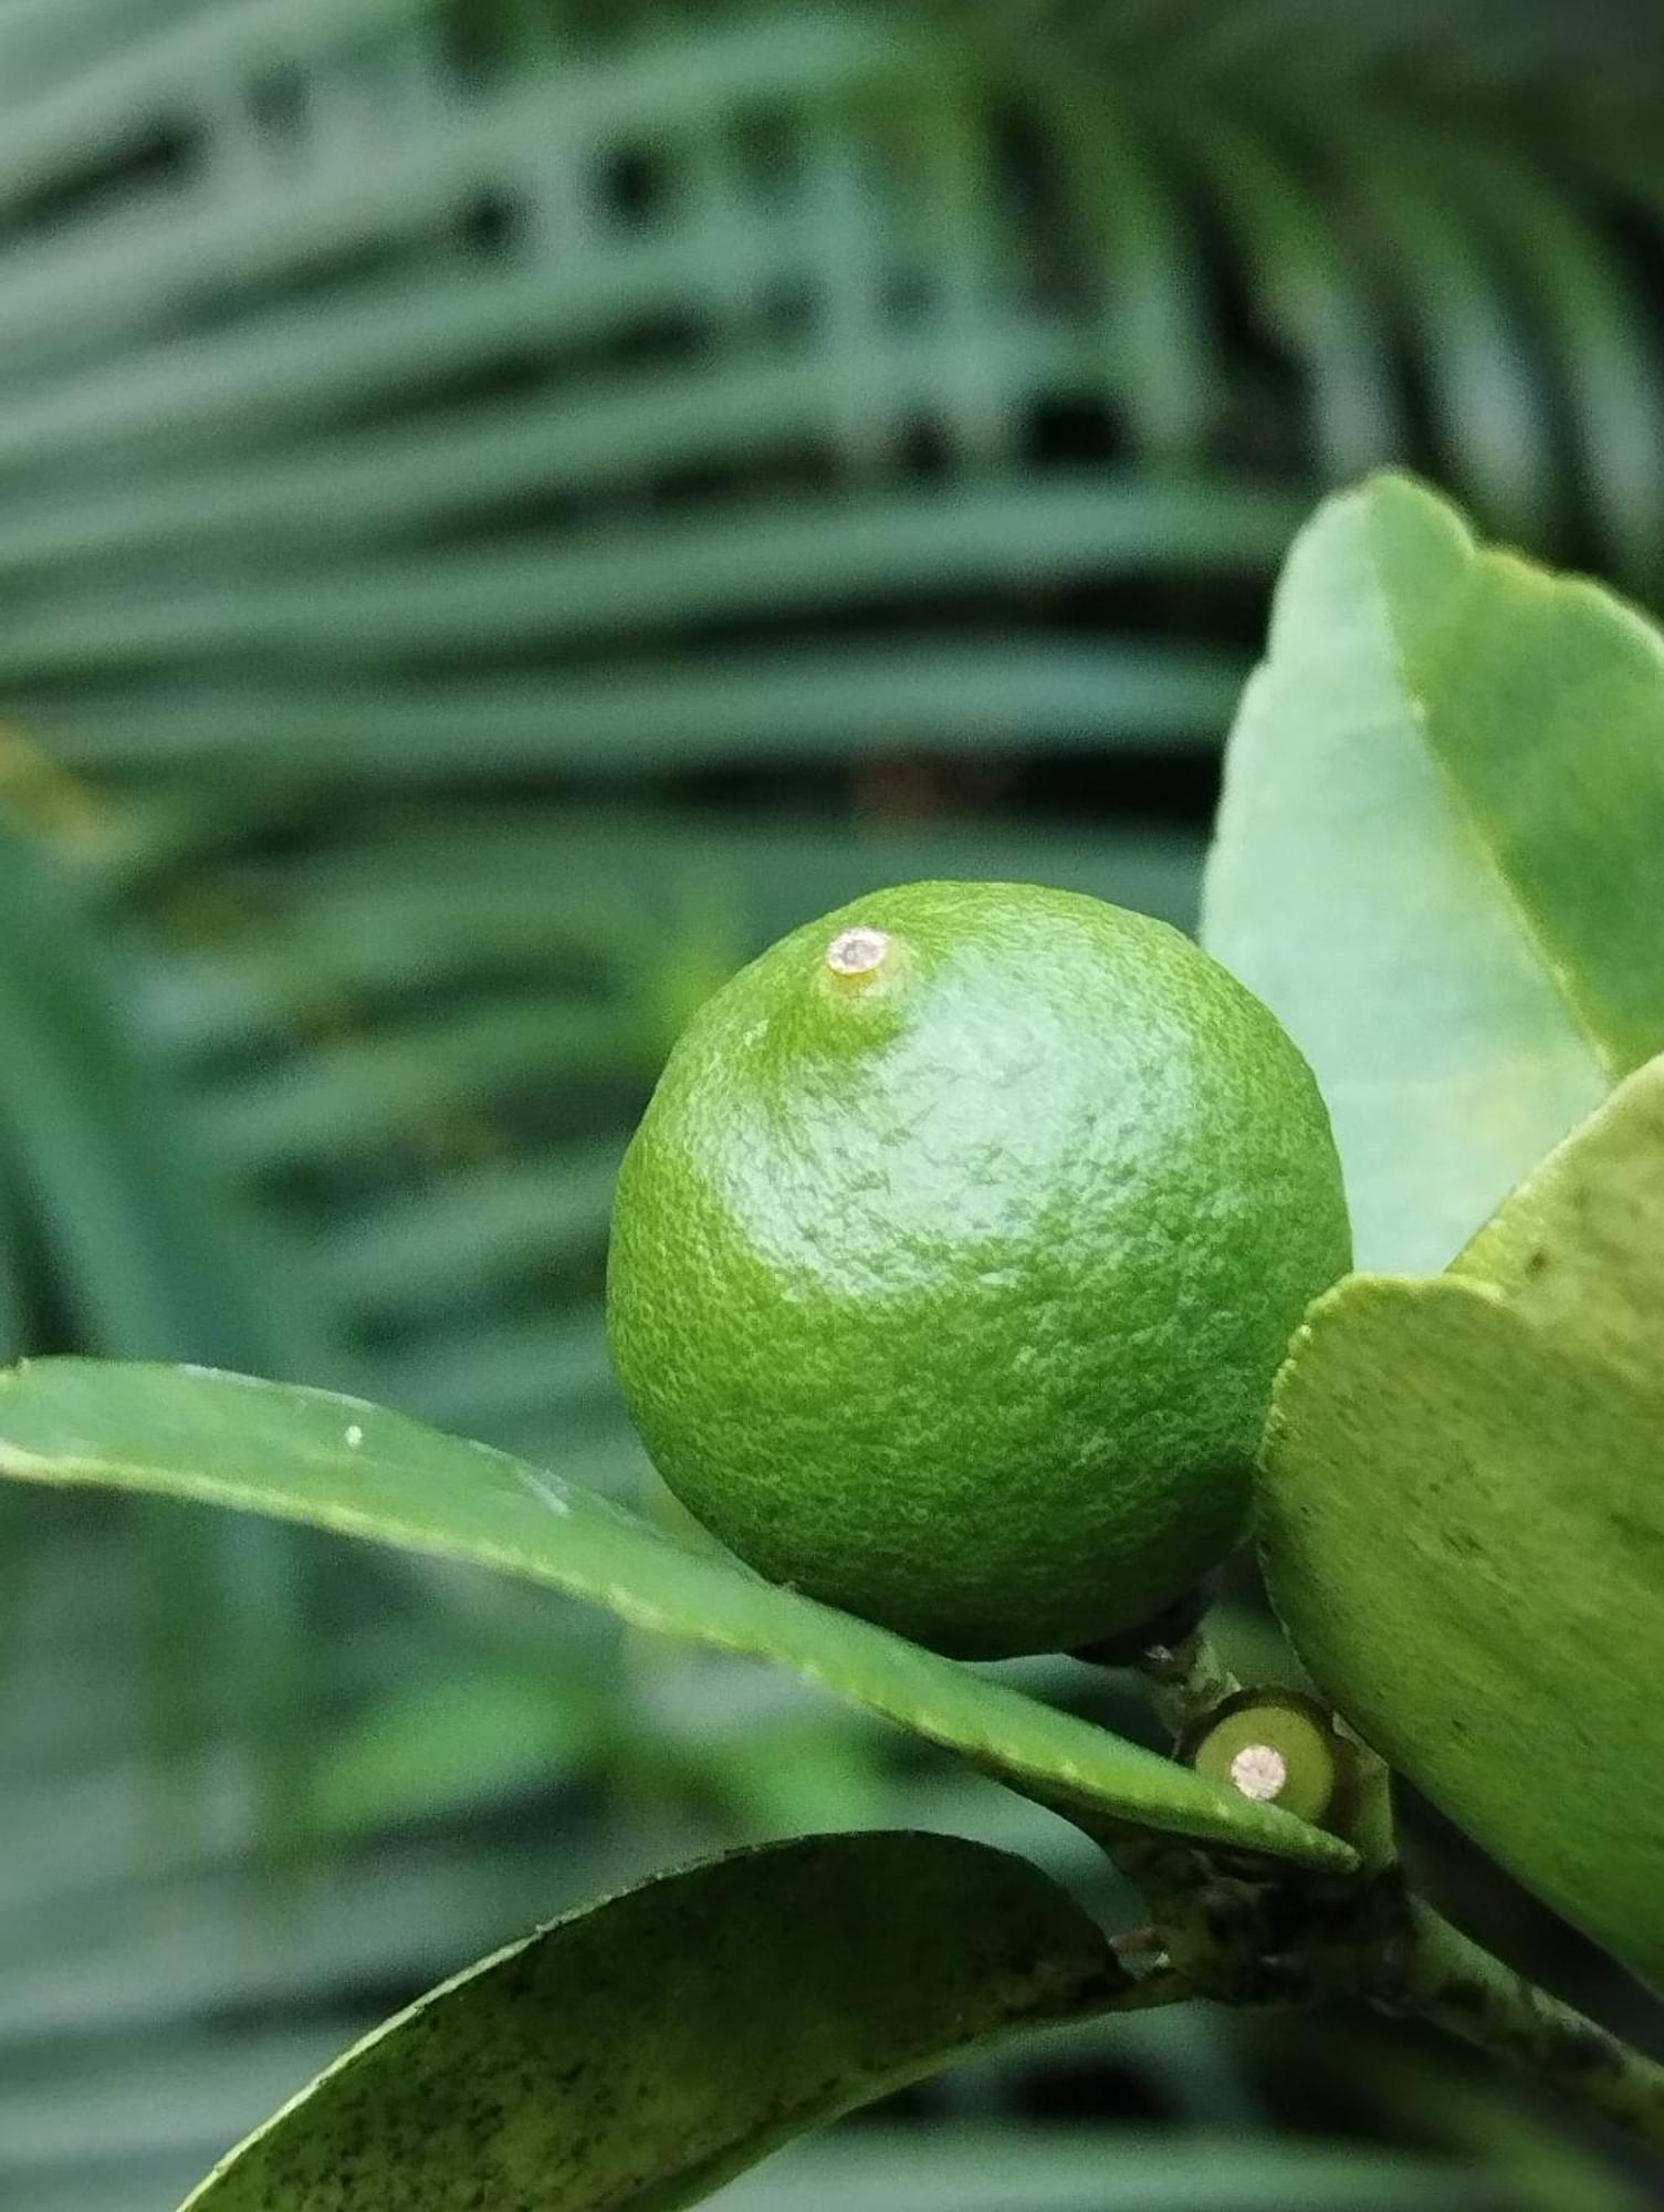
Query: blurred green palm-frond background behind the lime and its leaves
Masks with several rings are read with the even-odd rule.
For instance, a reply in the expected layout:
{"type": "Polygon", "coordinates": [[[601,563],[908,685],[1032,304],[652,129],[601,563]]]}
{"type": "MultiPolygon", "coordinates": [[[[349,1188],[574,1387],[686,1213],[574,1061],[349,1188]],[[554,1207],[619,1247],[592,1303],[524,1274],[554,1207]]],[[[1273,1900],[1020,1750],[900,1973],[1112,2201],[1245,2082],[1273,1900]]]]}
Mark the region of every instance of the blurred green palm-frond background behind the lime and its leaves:
{"type": "MultiPolygon", "coordinates": [[[[1653,0],[4,0],[0,1349],[635,1493],[611,1177],[737,960],[921,874],[1188,922],[1279,555],[1374,462],[1664,597],[1662,124],[1653,0]]],[[[724,1843],[940,1825],[1131,1913],[739,1661],[175,1509],[0,1535],[7,2212],[168,2212],[425,1982],[724,1843]]],[[[1288,1670],[1246,1582],[1224,1630],[1288,1670]]],[[[721,2201],[1657,2197],[1407,2033],[1190,2008],[721,2201]]]]}

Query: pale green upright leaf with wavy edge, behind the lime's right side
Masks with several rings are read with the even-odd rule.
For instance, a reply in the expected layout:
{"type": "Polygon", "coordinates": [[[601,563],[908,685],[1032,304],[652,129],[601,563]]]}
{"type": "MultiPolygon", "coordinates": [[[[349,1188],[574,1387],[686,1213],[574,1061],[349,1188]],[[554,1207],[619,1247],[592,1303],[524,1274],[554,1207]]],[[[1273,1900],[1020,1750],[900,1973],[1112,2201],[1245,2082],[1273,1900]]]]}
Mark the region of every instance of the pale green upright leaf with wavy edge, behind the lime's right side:
{"type": "Polygon", "coordinates": [[[1317,1068],[1359,1263],[1432,1272],[1664,1046],[1664,639],[1403,478],[1299,538],[1204,940],[1317,1068]]]}

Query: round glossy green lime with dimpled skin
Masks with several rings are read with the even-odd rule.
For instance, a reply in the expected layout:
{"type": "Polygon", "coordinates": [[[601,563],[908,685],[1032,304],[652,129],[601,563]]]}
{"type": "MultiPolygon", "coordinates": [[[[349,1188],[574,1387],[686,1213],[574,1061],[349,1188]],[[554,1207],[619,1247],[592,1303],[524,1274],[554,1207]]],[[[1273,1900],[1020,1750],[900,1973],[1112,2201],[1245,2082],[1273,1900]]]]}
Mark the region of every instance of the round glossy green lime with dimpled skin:
{"type": "Polygon", "coordinates": [[[609,1327],[741,1559],[1005,1657],[1135,1630],[1237,1544],[1348,1256],[1317,1082],[1215,960],[1073,891],[914,883],[695,1013],[620,1175],[609,1327]]]}

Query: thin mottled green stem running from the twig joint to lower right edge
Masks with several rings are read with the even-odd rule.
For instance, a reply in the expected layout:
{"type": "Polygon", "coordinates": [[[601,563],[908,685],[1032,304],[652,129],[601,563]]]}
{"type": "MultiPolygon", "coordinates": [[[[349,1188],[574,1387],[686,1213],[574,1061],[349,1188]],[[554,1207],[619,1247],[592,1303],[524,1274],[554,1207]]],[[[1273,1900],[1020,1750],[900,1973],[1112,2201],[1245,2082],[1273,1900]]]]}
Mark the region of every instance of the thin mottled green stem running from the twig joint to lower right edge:
{"type": "Polygon", "coordinates": [[[1514,1973],[1421,1900],[1410,1902],[1410,1929],[1392,2011],[1478,2044],[1664,2150],[1657,2059],[1514,1973]]]}

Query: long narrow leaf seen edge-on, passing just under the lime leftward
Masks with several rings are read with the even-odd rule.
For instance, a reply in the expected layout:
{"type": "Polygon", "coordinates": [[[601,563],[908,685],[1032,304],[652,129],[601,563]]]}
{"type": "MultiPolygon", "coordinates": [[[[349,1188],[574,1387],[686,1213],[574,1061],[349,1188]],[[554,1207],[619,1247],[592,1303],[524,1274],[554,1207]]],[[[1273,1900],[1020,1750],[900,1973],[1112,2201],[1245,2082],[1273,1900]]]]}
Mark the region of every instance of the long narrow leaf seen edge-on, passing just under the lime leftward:
{"type": "Polygon", "coordinates": [[[27,1363],[0,1376],[0,1475],[241,1506],[524,1575],[637,1628],[779,1659],[1031,1796],[1350,1863],[1339,1838],[1290,1814],[688,1551],[580,1484],[356,1398],[197,1367],[27,1363]]]}

